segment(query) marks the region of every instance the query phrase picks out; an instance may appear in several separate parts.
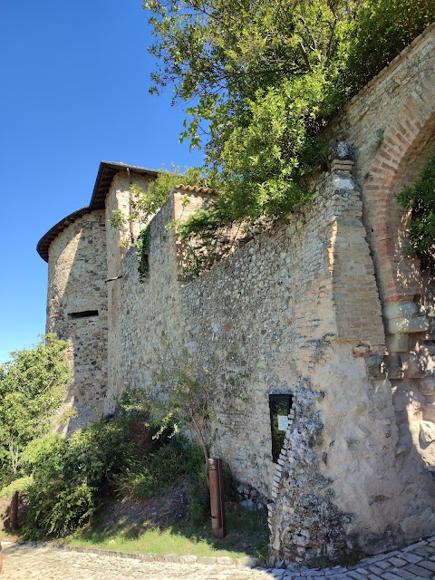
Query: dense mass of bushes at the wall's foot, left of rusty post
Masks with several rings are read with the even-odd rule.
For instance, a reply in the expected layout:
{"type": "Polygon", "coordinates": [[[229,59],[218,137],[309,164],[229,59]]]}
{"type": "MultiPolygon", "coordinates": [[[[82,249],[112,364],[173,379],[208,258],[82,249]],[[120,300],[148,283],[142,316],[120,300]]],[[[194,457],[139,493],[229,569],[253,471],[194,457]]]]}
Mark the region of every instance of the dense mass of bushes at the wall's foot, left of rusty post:
{"type": "MultiPolygon", "coordinates": [[[[148,415],[121,412],[78,430],[69,440],[48,435],[27,446],[22,458],[27,508],[22,536],[26,539],[64,537],[82,528],[105,498],[148,499],[164,494],[189,477],[197,489],[204,482],[200,451],[188,440],[159,439],[148,415]]],[[[193,497],[194,494],[192,494],[193,497]]],[[[202,494],[204,498],[204,494],[202,494]]],[[[192,502],[195,517],[198,500],[192,502]]],[[[201,506],[203,517],[207,504],[201,506]]]]}

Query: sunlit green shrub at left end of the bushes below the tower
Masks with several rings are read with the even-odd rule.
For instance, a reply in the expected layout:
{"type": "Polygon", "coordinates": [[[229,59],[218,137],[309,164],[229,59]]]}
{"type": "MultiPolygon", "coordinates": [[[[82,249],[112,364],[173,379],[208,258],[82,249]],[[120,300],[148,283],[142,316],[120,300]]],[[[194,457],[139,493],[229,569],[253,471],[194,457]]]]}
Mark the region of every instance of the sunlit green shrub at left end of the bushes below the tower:
{"type": "Polygon", "coordinates": [[[25,538],[65,536],[89,521],[104,489],[114,485],[116,474],[139,453],[144,437],[142,433],[138,438],[137,422],[136,416],[122,415],[76,431],[71,440],[50,435],[25,449],[24,471],[34,478],[28,489],[25,538]]]}

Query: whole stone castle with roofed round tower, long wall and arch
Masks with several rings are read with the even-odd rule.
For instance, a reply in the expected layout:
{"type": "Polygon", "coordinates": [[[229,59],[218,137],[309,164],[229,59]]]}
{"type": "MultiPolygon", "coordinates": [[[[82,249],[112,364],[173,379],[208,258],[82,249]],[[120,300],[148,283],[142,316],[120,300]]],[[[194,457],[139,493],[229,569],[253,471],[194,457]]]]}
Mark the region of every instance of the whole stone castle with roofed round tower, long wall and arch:
{"type": "Polygon", "coordinates": [[[244,377],[238,429],[213,425],[212,450],[267,502],[271,562],[435,533],[434,280],[406,252],[409,216],[394,198],[435,154],[434,70],[432,25],[327,128],[333,156],[314,201],[193,280],[165,226],[212,192],[170,191],[143,284],[140,224],[108,227],[114,209],[129,214],[131,184],[155,179],[148,169],[102,162],[89,207],[38,244],[47,332],[71,344],[70,431],[147,388],[161,343],[199,364],[215,357],[228,398],[244,377]]]}

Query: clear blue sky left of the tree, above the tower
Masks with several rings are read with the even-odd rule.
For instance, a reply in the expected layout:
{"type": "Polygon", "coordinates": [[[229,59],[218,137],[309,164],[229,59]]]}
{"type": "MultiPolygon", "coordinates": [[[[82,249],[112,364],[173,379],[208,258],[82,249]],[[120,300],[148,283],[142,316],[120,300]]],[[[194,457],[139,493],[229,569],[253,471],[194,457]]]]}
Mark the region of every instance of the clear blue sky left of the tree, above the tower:
{"type": "Polygon", "coordinates": [[[154,61],[140,0],[4,0],[0,8],[0,362],[45,328],[47,265],[35,247],[87,206],[101,160],[199,164],[179,144],[170,91],[149,94],[154,61]]]}

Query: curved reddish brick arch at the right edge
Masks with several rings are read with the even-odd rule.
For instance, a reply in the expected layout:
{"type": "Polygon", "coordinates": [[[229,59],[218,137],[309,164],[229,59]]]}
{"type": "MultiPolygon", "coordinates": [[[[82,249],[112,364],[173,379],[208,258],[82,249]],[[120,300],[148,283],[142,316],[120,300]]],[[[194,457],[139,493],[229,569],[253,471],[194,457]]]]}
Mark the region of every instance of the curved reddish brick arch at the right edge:
{"type": "Polygon", "coordinates": [[[394,194],[417,179],[435,151],[435,86],[421,86],[398,111],[376,151],[364,187],[365,218],[382,306],[421,292],[420,263],[407,256],[408,216],[394,194]]]}

